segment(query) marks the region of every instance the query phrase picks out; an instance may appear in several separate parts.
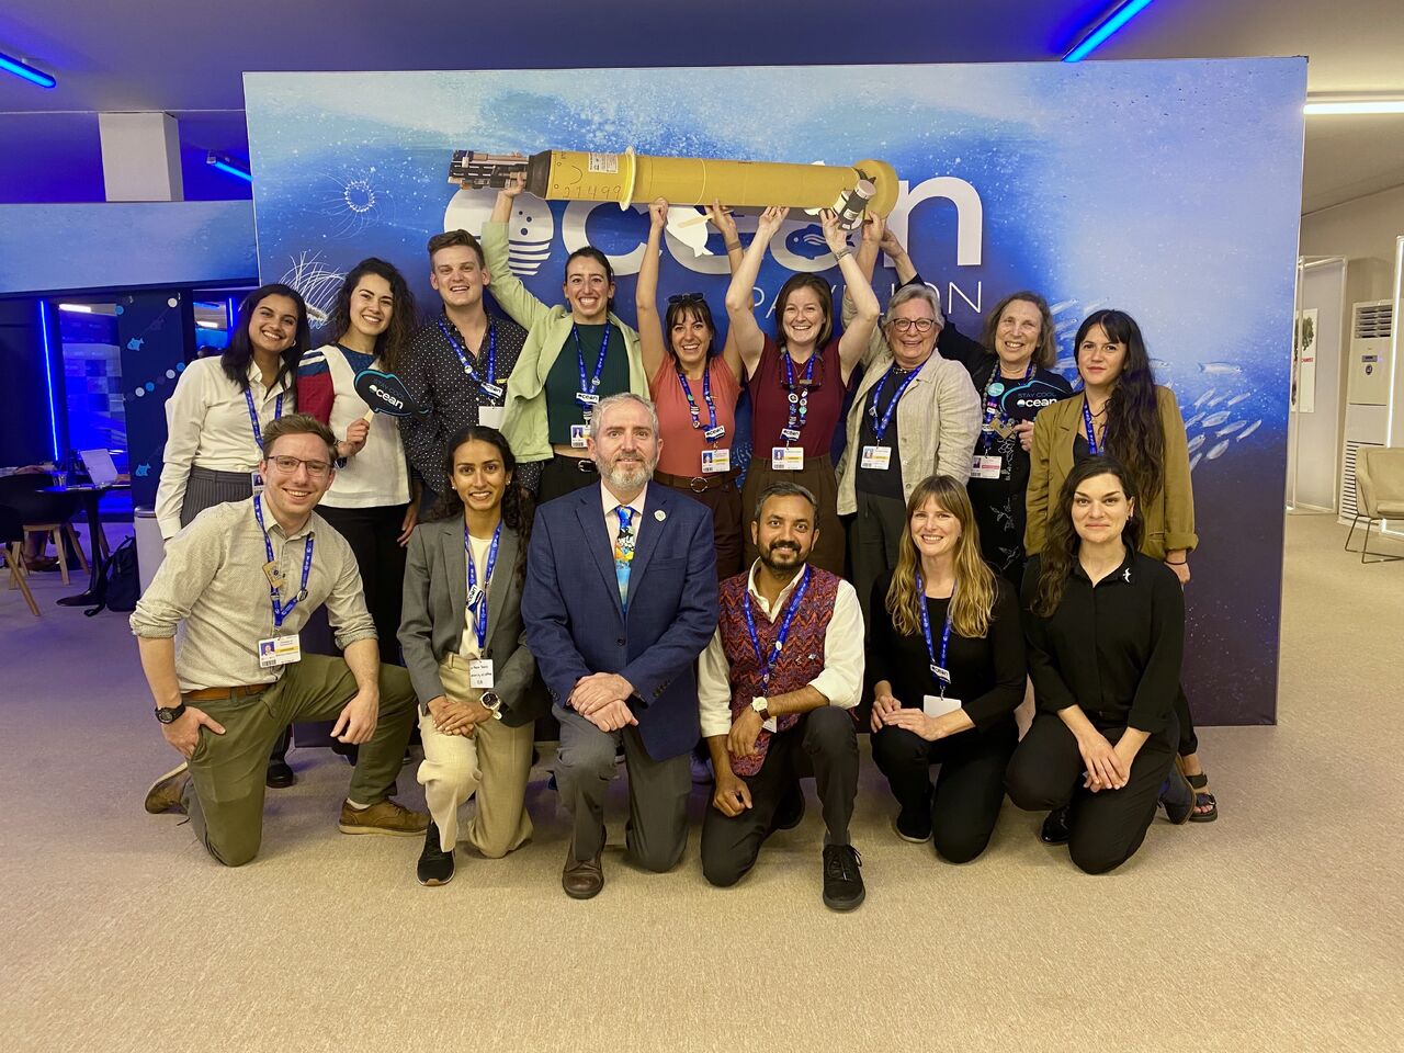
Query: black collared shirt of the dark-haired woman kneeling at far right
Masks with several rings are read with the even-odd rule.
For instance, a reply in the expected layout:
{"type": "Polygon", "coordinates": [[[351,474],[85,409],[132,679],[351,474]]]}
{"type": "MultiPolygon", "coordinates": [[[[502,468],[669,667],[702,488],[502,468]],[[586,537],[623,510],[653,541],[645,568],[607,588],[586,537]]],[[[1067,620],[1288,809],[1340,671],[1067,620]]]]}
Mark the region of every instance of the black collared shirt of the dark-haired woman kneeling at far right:
{"type": "Polygon", "coordinates": [[[1098,727],[1163,731],[1179,692],[1185,592],[1170,567],[1127,550],[1095,585],[1073,564],[1052,618],[1029,612],[1038,556],[1024,571],[1024,630],[1040,709],[1078,705],[1098,727]]]}

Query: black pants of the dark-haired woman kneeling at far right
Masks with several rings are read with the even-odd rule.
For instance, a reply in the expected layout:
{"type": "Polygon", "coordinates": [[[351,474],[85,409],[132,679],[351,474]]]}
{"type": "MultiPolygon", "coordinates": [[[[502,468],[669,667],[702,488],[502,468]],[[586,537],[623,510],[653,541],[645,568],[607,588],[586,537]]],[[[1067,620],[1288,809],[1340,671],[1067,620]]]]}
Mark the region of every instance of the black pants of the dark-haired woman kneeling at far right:
{"type": "MultiPolygon", "coordinates": [[[[1094,723],[1113,746],[1126,730],[1094,723]]],[[[1005,776],[1009,800],[1029,812],[1052,812],[1070,804],[1073,837],[1067,847],[1073,862],[1087,873],[1115,870],[1136,855],[1146,840],[1178,741],[1179,729],[1172,719],[1164,731],[1146,740],[1132,761],[1130,781],[1122,789],[1092,793],[1082,789],[1087,765],[1077,739],[1057,713],[1040,712],[1009,761],[1005,776]]]]}

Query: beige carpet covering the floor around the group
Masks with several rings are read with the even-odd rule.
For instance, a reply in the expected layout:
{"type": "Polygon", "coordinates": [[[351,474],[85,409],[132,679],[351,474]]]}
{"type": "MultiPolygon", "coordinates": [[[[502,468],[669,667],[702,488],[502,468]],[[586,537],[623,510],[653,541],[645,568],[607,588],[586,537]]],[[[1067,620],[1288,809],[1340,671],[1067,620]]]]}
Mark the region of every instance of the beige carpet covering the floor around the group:
{"type": "Polygon", "coordinates": [[[293,753],[260,859],[226,870],[142,812],[174,754],[125,618],[38,576],[42,619],[0,591],[0,1050],[1398,1050],[1404,563],[1344,534],[1289,519],[1280,723],[1203,733],[1217,823],[1157,820],[1088,878],[1005,804],[949,866],[890,833],[865,760],[849,915],[820,903],[813,796],[715,890],[695,830],[674,873],[623,862],[616,785],[605,890],[576,903],[538,774],[532,844],[421,889],[417,840],[337,833],[326,751],[293,753]]]}

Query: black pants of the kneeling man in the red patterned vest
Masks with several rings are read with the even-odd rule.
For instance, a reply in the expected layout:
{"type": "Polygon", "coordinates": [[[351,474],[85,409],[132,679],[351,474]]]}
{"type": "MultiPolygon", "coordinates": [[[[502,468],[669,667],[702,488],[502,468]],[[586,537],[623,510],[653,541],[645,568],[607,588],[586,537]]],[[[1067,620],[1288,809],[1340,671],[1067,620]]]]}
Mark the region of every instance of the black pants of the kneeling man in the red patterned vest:
{"type": "Polygon", "coordinates": [[[858,796],[858,729],[851,710],[821,706],[771,737],[761,769],[746,779],[751,807],[723,816],[708,806],[702,820],[702,873],[712,885],[736,885],[755,865],[772,833],[775,810],[813,775],[828,827],[827,844],[848,844],[848,823],[858,796]]]}

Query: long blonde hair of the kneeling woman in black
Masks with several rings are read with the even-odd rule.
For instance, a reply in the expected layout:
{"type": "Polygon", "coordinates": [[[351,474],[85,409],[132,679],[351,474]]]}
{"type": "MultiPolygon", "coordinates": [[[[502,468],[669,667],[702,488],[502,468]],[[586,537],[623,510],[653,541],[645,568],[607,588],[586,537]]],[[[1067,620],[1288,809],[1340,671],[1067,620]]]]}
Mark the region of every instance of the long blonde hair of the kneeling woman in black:
{"type": "Polygon", "coordinates": [[[911,517],[931,498],[960,524],[955,556],[956,587],[951,594],[951,625],[967,640],[980,639],[990,632],[990,618],[994,614],[994,571],[980,555],[980,529],[974,524],[970,497],[965,486],[951,476],[927,476],[917,483],[907,500],[907,522],[901,529],[901,541],[897,542],[897,569],[887,588],[887,614],[903,636],[921,633],[921,604],[927,602],[927,598],[917,591],[921,553],[911,539],[911,517]]]}

